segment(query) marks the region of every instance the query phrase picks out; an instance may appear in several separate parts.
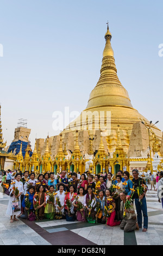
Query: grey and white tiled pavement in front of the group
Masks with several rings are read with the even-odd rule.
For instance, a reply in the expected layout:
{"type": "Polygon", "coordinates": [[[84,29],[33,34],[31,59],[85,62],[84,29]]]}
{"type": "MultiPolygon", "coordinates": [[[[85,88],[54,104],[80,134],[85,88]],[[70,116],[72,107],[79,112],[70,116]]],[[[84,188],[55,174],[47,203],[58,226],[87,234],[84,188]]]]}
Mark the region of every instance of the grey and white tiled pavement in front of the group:
{"type": "Polygon", "coordinates": [[[0,245],[163,245],[163,210],[154,190],[147,192],[148,231],[125,233],[105,224],[19,219],[6,215],[8,196],[0,199],[0,245]]]}

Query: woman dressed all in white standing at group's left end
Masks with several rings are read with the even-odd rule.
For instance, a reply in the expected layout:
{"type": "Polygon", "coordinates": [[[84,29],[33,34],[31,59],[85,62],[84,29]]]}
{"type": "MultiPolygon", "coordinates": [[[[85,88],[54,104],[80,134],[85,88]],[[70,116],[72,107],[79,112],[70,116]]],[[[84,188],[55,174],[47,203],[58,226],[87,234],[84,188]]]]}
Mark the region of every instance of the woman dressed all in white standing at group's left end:
{"type": "Polygon", "coordinates": [[[10,222],[18,221],[16,216],[20,216],[21,214],[21,194],[24,193],[23,182],[21,180],[21,175],[17,173],[15,175],[15,180],[11,182],[9,191],[9,203],[7,208],[7,214],[10,215],[10,222]],[[15,192],[17,191],[17,195],[15,196],[15,192]]]}

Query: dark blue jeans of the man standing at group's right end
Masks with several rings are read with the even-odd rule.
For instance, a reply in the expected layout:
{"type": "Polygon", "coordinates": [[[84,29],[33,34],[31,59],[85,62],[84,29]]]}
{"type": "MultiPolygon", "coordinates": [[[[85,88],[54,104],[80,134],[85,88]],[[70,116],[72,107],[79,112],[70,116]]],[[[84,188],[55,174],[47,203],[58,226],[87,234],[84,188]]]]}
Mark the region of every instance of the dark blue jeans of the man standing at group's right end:
{"type": "Polygon", "coordinates": [[[137,223],[139,227],[142,227],[142,214],[144,218],[143,222],[143,228],[148,228],[148,214],[147,214],[147,203],[146,198],[142,198],[142,205],[139,202],[139,198],[135,198],[135,206],[136,206],[136,212],[137,212],[137,223]],[[142,212],[141,212],[142,211],[142,212]]]}

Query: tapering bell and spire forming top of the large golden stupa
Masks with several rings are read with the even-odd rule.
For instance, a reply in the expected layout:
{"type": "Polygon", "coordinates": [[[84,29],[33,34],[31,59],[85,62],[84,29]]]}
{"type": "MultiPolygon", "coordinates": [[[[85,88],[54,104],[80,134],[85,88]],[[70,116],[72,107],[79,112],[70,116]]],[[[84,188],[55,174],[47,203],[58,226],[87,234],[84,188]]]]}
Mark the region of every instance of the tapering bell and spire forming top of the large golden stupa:
{"type": "MultiPolygon", "coordinates": [[[[108,24],[108,23],[107,23],[108,24]]],[[[126,107],[133,108],[127,90],[122,86],[118,76],[114,59],[114,51],[111,47],[112,35],[107,26],[105,33],[105,47],[101,66],[101,76],[96,87],[90,94],[85,110],[97,107],[126,107]]],[[[91,110],[92,111],[92,110],[91,110]]]]}

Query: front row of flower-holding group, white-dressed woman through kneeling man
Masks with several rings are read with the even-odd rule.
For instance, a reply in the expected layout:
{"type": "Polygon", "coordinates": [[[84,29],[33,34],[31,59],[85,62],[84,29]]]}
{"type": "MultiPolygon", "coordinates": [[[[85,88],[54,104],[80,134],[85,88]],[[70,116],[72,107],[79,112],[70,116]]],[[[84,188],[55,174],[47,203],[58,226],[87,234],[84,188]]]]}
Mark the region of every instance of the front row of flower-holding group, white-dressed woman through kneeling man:
{"type": "Polygon", "coordinates": [[[49,186],[49,191],[46,191],[42,184],[37,186],[36,190],[35,186],[29,185],[24,194],[20,180],[21,175],[17,173],[15,181],[10,185],[11,195],[7,210],[11,216],[10,222],[18,221],[16,216],[30,221],[66,218],[67,221],[106,223],[111,227],[120,225],[120,228],[126,232],[139,229],[134,205],[131,204],[129,209],[125,208],[127,196],[125,191],[120,192],[121,200],[118,200],[120,202],[118,206],[109,188],[96,193],[91,185],[86,191],[80,186],[76,193],[74,185],[70,185],[67,192],[64,183],[61,182],[58,184],[58,191],[55,191],[53,185],[49,186]]]}

